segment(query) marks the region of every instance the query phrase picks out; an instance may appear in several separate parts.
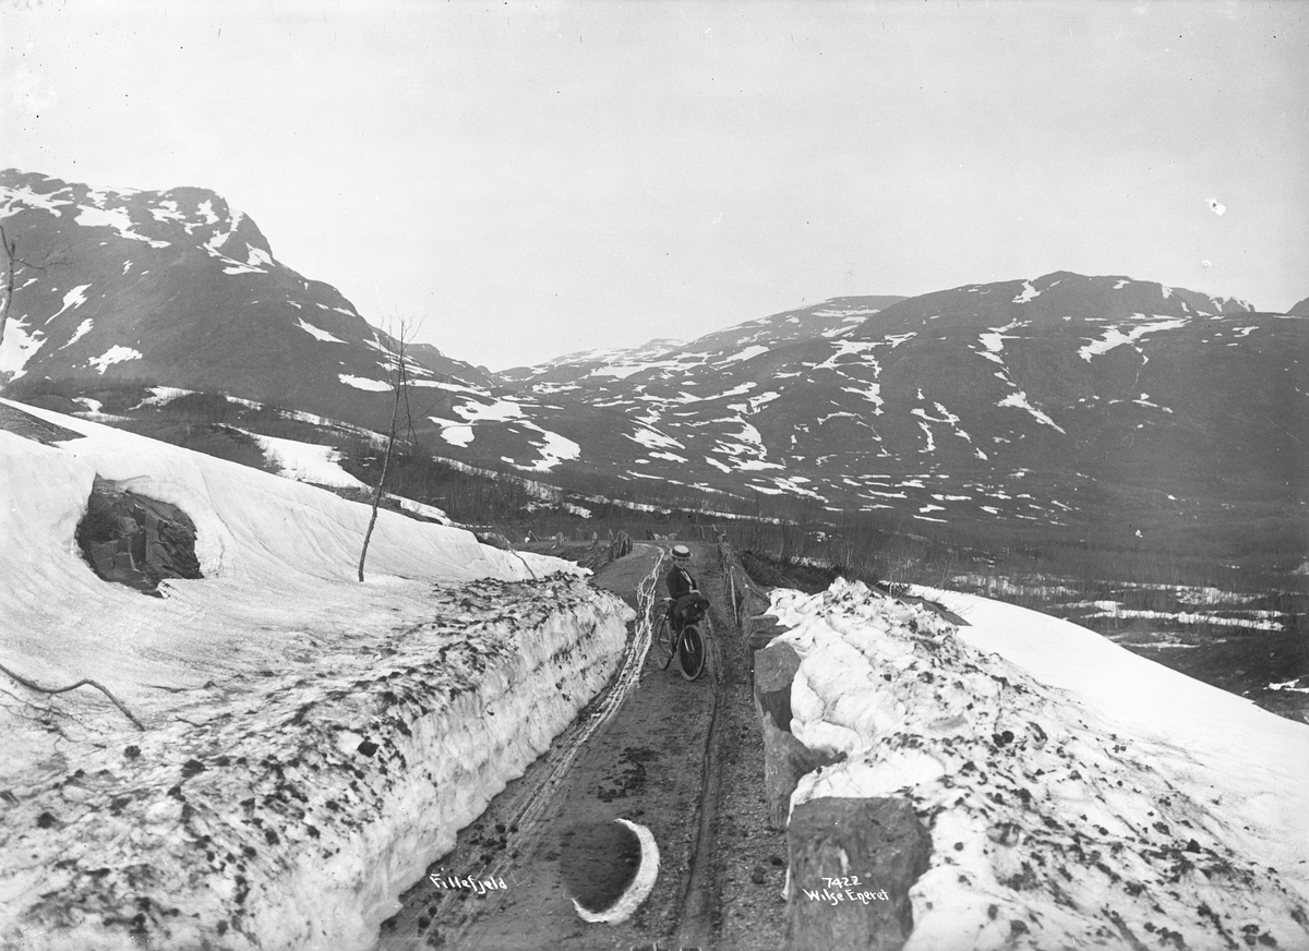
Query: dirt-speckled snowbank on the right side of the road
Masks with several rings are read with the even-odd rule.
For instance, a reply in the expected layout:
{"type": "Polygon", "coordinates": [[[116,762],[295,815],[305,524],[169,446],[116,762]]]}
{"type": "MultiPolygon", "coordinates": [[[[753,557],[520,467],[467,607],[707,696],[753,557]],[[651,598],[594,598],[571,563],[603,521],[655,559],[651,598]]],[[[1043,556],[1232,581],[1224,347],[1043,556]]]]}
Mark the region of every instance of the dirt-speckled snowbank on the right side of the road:
{"type": "Polygon", "coordinates": [[[1309,947],[1309,727],[927,594],[970,627],[843,579],[772,598],[802,658],[792,730],[844,756],[792,803],[907,797],[931,832],[906,951],[1309,947]]]}

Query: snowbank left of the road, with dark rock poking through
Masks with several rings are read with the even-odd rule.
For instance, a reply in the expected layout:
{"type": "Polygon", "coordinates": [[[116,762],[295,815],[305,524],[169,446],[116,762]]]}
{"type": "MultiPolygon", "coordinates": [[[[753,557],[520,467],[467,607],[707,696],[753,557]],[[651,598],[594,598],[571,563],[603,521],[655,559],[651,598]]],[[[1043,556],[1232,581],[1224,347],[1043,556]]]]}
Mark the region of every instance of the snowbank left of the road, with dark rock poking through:
{"type": "Polygon", "coordinates": [[[365,948],[613,672],[567,562],[85,420],[0,429],[0,946],[365,948]],[[101,581],[92,481],[177,505],[203,578],[101,581]]]}

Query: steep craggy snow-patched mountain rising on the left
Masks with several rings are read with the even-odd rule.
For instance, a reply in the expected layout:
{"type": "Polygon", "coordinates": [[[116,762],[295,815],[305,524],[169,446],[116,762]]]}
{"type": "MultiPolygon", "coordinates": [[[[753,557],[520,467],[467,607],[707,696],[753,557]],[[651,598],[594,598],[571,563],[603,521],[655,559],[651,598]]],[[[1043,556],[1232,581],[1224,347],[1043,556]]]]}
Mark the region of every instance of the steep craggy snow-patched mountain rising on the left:
{"type": "MultiPolygon", "coordinates": [[[[377,423],[391,340],[330,284],[279,263],[253,218],[206,188],[110,191],[0,171],[20,268],[0,373],[143,381],[377,423]]],[[[431,345],[428,382],[488,385],[431,345]]]]}

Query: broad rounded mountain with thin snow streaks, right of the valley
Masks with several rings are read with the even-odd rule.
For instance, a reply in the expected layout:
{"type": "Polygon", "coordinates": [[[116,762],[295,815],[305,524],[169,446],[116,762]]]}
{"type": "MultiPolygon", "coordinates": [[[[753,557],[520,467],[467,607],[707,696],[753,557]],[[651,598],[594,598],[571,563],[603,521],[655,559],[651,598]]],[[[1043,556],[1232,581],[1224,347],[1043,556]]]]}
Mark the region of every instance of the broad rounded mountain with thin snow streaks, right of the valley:
{"type": "MultiPolygon", "coordinates": [[[[830,313],[844,310],[835,303],[830,313]]],[[[813,319],[798,314],[788,320],[813,319]]],[[[1060,272],[902,300],[812,330],[737,336],[732,353],[696,341],[640,361],[575,360],[522,387],[609,413],[607,434],[579,438],[576,466],[632,480],[928,522],[1068,525],[1114,508],[1126,530],[1140,509],[1189,523],[1255,500],[1304,515],[1295,509],[1309,498],[1301,319],[1060,272]]]]}

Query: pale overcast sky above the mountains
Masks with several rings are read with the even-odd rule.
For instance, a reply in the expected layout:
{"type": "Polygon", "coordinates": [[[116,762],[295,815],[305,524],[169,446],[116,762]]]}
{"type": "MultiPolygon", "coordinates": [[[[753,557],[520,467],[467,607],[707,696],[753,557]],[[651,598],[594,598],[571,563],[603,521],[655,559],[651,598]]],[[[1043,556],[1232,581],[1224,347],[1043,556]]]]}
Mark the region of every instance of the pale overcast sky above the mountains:
{"type": "Polygon", "coordinates": [[[212,188],[491,369],[1056,269],[1309,296],[1306,3],[0,0],[0,30],[5,166],[212,188]]]}

